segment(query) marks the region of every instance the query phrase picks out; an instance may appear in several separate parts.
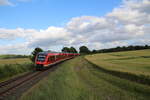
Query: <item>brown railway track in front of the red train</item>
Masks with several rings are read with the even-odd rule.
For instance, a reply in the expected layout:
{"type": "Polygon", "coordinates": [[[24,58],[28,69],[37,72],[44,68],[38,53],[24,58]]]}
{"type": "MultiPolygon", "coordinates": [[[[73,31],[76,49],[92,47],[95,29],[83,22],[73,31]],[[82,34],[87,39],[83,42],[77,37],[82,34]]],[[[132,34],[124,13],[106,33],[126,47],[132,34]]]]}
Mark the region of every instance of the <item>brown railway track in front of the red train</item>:
{"type": "Polygon", "coordinates": [[[56,69],[56,66],[44,71],[29,72],[22,76],[0,83],[0,100],[8,100],[11,95],[16,97],[19,94],[17,91],[20,91],[23,87],[26,87],[26,85],[36,84],[39,80],[41,80],[41,78],[47,76],[49,72],[53,71],[54,69],[56,69]]]}

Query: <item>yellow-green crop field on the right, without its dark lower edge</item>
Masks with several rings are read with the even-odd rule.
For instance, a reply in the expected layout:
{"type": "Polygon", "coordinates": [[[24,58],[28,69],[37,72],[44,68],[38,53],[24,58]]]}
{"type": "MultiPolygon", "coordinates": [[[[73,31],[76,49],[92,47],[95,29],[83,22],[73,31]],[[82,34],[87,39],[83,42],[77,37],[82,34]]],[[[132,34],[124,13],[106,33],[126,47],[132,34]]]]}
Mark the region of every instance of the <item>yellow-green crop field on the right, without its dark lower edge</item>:
{"type": "Polygon", "coordinates": [[[85,58],[105,69],[150,75],[150,50],[95,54],[85,58]]]}

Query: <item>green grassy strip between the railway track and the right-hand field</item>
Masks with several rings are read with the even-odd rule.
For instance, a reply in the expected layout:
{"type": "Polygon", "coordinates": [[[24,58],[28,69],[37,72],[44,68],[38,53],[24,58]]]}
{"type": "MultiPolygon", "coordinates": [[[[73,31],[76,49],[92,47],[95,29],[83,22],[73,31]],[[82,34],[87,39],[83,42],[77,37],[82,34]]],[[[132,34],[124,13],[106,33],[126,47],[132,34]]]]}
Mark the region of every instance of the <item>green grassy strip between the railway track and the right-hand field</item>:
{"type": "Polygon", "coordinates": [[[58,69],[23,94],[21,100],[149,100],[150,87],[97,69],[83,57],[58,69]]]}

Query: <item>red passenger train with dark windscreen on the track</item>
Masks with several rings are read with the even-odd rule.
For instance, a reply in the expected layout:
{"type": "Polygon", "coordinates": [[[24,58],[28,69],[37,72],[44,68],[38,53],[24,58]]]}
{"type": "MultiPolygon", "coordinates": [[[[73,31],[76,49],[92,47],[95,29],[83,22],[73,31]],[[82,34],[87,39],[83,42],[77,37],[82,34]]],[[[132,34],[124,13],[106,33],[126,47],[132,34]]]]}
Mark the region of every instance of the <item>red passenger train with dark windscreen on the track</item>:
{"type": "Polygon", "coordinates": [[[39,52],[35,59],[36,69],[44,69],[78,55],[80,54],[49,51],[39,52]]]}

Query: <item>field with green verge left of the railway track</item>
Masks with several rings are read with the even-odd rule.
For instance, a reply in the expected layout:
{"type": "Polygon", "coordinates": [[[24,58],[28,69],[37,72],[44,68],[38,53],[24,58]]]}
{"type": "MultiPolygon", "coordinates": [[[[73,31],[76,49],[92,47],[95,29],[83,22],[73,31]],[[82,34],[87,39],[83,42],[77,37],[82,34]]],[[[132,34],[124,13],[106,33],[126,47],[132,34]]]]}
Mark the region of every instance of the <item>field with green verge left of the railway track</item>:
{"type": "Polygon", "coordinates": [[[33,70],[33,64],[27,57],[0,55],[0,81],[5,81],[31,70],[33,70]]]}

